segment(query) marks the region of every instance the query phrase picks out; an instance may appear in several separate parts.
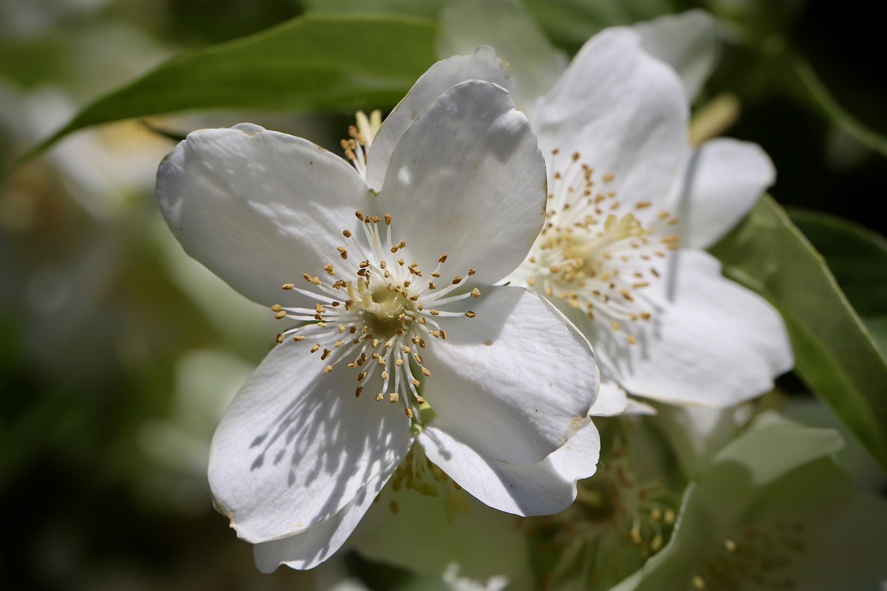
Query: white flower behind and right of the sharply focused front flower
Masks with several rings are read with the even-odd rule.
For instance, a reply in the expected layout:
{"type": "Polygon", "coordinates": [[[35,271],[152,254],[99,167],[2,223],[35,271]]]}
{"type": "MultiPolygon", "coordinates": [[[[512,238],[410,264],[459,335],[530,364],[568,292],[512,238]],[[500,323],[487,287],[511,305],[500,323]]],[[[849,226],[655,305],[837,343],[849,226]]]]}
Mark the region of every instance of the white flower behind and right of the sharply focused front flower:
{"type": "MultiPolygon", "coordinates": [[[[692,17],[689,28],[709,22],[692,17]]],[[[757,201],[773,165],[752,144],[687,145],[687,91],[701,67],[682,81],[646,49],[680,38],[681,22],[595,35],[538,100],[546,225],[508,279],[548,296],[588,336],[602,391],[728,406],[792,366],[779,314],[702,249],[757,201]]]]}

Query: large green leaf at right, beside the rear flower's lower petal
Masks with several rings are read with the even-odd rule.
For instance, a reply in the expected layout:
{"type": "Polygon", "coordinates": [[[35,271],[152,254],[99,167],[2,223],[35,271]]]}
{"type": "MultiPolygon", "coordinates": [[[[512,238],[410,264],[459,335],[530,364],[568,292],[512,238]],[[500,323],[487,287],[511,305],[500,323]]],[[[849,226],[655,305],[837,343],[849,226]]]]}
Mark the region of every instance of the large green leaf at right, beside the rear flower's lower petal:
{"type": "Polygon", "coordinates": [[[781,312],[797,374],[887,469],[887,363],[823,257],[770,197],[711,250],[781,312]]]}

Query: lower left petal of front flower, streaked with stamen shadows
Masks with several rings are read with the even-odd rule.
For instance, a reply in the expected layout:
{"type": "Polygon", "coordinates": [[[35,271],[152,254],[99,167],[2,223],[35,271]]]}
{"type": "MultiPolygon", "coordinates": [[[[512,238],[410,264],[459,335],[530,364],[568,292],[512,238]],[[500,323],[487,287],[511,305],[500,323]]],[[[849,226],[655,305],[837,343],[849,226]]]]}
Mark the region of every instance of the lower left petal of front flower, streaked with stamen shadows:
{"type": "Polygon", "coordinates": [[[276,540],[374,494],[412,443],[400,407],[355,398],[355,376],[302,343],[277,346],[216,429],[209,485],[240,538],[276,540]]]}

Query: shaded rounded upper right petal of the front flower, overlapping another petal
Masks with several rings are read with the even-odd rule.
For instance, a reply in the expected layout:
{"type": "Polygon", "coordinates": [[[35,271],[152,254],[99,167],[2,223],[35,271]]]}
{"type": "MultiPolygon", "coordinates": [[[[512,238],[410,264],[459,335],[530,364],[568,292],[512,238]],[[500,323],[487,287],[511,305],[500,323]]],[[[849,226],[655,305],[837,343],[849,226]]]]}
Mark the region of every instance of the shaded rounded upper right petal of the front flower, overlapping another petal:
{"type": "Polygon", "coordinates": [[[448,254],[453,275],[494,283],[542,228],[545,159],[505,89],[459,83],[404,133],[378,200],[423,267],[448,254]]]}

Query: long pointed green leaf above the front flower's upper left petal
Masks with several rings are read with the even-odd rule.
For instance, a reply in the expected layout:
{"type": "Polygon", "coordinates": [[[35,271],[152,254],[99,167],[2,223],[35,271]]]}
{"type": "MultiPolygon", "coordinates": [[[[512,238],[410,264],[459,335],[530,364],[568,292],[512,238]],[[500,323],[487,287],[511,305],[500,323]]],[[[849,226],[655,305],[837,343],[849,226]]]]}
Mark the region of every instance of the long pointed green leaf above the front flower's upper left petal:
{"type": "Polygon", "coordinates": [[[178,56],[84,107],[33,148],[90,125],[196,109],[354,111],[394,106],[436,61],[436,24],[396,15],[307,15],[178,56]]]}

